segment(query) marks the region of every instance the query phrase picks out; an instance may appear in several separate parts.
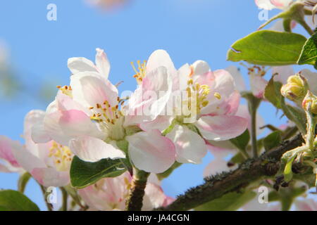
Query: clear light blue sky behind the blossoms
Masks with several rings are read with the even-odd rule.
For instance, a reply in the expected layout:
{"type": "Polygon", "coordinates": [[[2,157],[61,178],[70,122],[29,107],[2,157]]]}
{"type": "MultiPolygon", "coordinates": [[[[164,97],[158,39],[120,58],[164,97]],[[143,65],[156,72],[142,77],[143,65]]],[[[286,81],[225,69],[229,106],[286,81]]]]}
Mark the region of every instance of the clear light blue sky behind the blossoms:
{"type": "MultiPolygon", "coordinates": [[[[131,0],[110,13],[81,0],[1,1],[0,39],[6,42],[10,63],[31,94],[0,99],[0,134],[21,140],[25,114],[44,110],[48,103],[37,100],[37,86],[68,84],[67,59],[94,60],[97,47],[105,49],[111,61],[109,79],[114,84],[124,80],[120,91],[135,89],[130,62],[146,60],[156,49],[166,49],[177,68],[198,59],[208,61],[213,70],[239,66],[226,61],[226,52],[234,41],[263,23],[259,12],[251,0],[131,0]],[[46,20],[46,6],[51,3],[57,6],[57,21],[46,20]]],[[[260,111],[266,122],[285,122],[268,103],[260,111]]],[[[202,171],[211,158],[208,155],[201,165],[177,169],[163,182],[166,193],[175,196],[201,184],[202,171]]],[[[16,174],[0,174],[0,188],[16,189],[17,179],[16,174]]],[[[31,181],[26,194],[45,209],[39,193],[31,181]]]]}

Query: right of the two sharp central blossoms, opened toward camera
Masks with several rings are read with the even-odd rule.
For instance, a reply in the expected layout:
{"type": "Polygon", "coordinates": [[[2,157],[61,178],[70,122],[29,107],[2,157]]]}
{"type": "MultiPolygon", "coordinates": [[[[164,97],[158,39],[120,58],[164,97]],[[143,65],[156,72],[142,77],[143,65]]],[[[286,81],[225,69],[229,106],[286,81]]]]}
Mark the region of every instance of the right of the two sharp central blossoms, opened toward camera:
{"type": "MultiPolygon", "coordinates": [[[[200,163],[201,158],[206,155],[204,139],[228,140],[242,134],[246,129],[246,120],[235,116],[240,95],[235,91],[234,81],[228,72],[211,72],[209,65],[201,60],[193,65],[185,64],[176,70],[168,53],[157,50],[151,54],[146,66],[139,67],[141,70],[135,77],[141,78],[141,86],[147,85],[147,79],[151,79],[151,71],[162,67],[167,68],[173,80],[173,93],[168,101],[164,98],[167,105],[162,105],[164,108],[160,108],[156,118],[152,117],[149,122],[138,121],[136,116],[132,120],[144,130],[159,129],[163,133],[171,126],[166,137],[175,143],[178,162],[200,163]],[[175,97],[178,100],[173,104],[175,97]],[[193,126],[198,129],[199,134],[193,131],[193,126]]],[[[151,82],[156,80],[152,79],[151,82]]],[[[133,101],[129,101],[128,107],[130,111],[135,111],[135,102],[143,102],[144,99],[134,95],[131,98],[133,101]]]]}

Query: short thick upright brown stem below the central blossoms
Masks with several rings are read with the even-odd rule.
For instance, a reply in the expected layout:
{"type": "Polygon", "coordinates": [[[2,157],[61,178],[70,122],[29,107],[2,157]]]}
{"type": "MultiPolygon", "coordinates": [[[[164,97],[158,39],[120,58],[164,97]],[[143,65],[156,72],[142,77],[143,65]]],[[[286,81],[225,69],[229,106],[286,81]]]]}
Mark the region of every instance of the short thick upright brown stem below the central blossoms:
{"type": "Polygon", "coordinates": [[[144,189],[147,186],[148,172],[136,169],[132,179],[130,195],[125,205],[127,211],[141,211],[143,206],[144,189]]]}

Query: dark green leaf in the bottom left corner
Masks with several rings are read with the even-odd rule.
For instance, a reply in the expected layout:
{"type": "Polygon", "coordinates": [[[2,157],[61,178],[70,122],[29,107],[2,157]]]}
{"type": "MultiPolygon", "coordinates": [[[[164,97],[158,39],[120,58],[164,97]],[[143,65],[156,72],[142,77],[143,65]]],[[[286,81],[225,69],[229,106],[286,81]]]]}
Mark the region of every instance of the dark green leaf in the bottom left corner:
{"type": "Polygon", "coordinates": [[[0,211],[39,211],[27,196],[18,191],[0,191],[0,211]]]}

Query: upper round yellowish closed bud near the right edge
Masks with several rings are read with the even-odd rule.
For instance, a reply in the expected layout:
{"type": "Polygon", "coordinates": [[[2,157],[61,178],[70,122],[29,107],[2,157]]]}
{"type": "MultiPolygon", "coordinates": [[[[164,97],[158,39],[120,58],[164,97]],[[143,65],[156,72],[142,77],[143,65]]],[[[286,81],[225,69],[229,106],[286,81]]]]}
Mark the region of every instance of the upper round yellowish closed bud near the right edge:
{"type": "Polygon", "coordinates": [[[287,79],[287,84],[283,85],[280,91],[285,98],[302,103],[308,91],[308,84],[301,75],[293,75],[287,79]]]}

